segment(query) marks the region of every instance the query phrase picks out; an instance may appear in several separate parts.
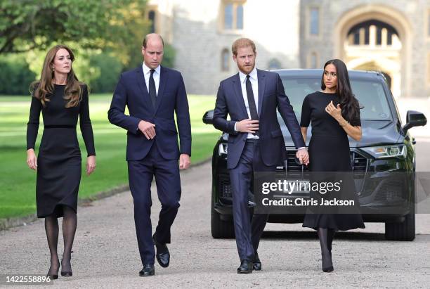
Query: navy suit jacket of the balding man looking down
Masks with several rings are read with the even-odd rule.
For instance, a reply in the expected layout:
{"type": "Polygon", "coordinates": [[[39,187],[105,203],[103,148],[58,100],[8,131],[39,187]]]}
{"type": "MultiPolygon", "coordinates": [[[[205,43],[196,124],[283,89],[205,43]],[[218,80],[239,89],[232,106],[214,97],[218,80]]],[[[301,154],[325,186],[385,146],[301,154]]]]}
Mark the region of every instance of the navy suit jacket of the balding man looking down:
{"type": "Polygon", "coordinates": [[[191,155],[187,94],[182,75],[176,70],[161,67],[155,108],[145,84],[142,66],[122,73],[107,116],[112,124],[127,130],[126,160],[142,160],[155,141],[159,153],[167,160],[177,160],[180,153],[191,155]],[[124,114],[126,105],[129,115],[124,114]],[[181,148],[178,147],[174,113],[181,148]],[[146,139],[138,129],[141,120],[155,124],[154,139],[146,139]]]}

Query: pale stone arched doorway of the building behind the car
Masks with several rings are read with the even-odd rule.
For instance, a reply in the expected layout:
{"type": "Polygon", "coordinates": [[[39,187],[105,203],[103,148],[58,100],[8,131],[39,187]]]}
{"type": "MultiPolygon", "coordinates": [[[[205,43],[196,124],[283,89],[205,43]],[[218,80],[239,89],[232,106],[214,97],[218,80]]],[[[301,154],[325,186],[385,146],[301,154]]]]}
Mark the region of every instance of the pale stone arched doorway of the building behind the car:
{"type": "Polygon", "coordinates": [[[337,21],[334,38],[334,54],[349,69],[381,71],[394,96],[410,95],[410,24],[400,11],[372,4],[353,8],[337,21]]]}

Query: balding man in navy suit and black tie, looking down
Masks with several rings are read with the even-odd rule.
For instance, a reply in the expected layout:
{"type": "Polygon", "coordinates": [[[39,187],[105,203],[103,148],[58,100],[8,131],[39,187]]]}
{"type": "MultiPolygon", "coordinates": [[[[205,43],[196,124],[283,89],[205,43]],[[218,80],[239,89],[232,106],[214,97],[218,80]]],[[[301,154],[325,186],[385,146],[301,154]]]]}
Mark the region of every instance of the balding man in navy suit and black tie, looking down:
{"type": "Polygon", "coordinates": [[[163,48],[161,36],[145,36],[143,65],[122,73],[108,112],[109,121],[127,131],[129,185],[143,264],[140,276],[155,274],[155,255],[160,266],[169,266],[170,253],[166,244],[170,243],[170,228],[181,198],[179,169],[190,166],[191,124],[185,85],[180,72],[160,65],[163,48]],[[124,114],[126,105],[129,115],[124,114]],[[150,188],[154,176],[162,210],[157,229],[151,236],[150,188]]]}

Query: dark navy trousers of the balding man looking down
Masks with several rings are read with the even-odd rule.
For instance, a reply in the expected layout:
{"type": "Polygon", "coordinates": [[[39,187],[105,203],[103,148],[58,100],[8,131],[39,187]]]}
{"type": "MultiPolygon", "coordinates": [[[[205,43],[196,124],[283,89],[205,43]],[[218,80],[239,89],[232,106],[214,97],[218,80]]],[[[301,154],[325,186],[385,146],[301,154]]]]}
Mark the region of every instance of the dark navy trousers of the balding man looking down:
{"type": "Polygon", "coordinates": [[[129,160],[128,165],[134,222],[142,264],[154,264],[155,250],[150,219],[152,177],[155,176],[158,199],[162,204],[155,235],[159,243],[170,243],[170,228],[178,213],[181,198],[178,160],[162,158],[155,142],[143,160],[129,160]]]}

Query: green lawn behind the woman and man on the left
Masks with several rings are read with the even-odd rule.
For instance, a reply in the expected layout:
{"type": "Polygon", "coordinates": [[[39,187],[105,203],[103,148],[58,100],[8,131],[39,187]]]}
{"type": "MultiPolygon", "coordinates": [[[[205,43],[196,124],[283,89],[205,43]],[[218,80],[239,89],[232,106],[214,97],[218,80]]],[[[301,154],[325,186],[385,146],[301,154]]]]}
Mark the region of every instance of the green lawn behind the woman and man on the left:
{"type": "MultiPolygon", "coordinates": [[[[96,142],[96,172],[86,176],[86,150],[78,129],[82,150],[82,181],[79,198],[107,191],[127,184],[125,161],[126,131],[107,121],[110,94],[90,96],[91,122],[96,142]]],[[[190,103],[193,148],[191,162],[196,163],[210,157],[219,132],[203,124],[202,115],[213,109],[215,98],[209,96],[188,96],[190,103]]],[[[36,212],[36,174],[25,162],[29,96],[0,97],[0,219],[22,217],[36,212]]],[[[79,125],[78,125],[79,127],[79,125]]],[[[37,148],[41,140],[43,125],[39,127],[37,148]]]]}

